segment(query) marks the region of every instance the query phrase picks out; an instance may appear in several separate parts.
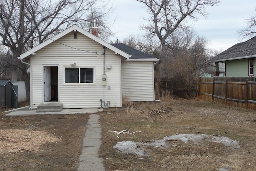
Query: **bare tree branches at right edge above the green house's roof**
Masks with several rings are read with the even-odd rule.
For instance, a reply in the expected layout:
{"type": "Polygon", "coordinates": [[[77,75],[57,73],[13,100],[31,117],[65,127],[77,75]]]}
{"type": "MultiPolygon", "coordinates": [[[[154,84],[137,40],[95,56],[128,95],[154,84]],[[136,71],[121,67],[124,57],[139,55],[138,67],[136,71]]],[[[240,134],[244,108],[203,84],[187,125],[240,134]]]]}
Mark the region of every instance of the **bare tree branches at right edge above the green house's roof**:
{"type": "Polygon", "coordinates": [[[252,38],[256,35],[256,15],[250,16],[247,19],[247,26],[245,26],[243,29],[240,29],[238,34],[240,35],[241,40],[246,37],[252,38]]]}

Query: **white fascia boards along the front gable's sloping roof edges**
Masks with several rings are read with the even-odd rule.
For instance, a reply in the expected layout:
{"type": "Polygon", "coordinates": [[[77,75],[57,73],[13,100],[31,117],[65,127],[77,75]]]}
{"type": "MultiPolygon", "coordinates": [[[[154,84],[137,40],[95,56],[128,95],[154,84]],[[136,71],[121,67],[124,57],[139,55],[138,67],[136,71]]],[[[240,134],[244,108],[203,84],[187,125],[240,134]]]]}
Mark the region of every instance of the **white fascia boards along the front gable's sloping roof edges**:
{"type": "Polygon", "coordinates": [[[78,32],[84,34],[84,35],[87,36],[88,38],[91,38],[92,40],[98,42],[98,43],[101,44],[102,46],[105,46],[106,48],[108,48],[108,49],[114,51],[116,54],[120,54],[121,56],[123,56],[123,57],[126,58],[126,59],[129,59],[129,58],[130,58],[130,55],[129,55],[129,54],[127,54],[127,53],[123,52],[122,50],[120,50],[120,49],[118,49],[118,48],[116,48],[116,47],[114,47],[114,46],[108,44],[107,42],[105,42],[104,40],[101,40],[100,38],[94,36],[93,34],[90,34],[89,32],[86,32],[84,29],[82,29],[82,28],[80,28],[80,27],[78,27],[78,26],[76,26],[76,25],[73,25],[73,26],[71,26],[70,28],[67,28],[66,30],[60,32],[59,34],[53,36],[52,38],[46,40],[45,42],[42,42],[42,43],[39,44],[38,46],[36,46],[36,47],[34,47],[34,48],[28,50],[28,51],[25,52],[24,54],[21,54],[19,58],[22,60],[22,59],[24,59],[24,58],[26,58],[26,57],[32,55],[32,54],[35,53],[36,51],[38,51],[38,50],[44,48],[44,47],[47,46],[48,44],[50,44],[50,43],[52,43],[52,42],[58,40],[59,38],[65,36],[66,34],[68,34],[68,33],[70,33],[70,32],[73,32],[73,31],[78,31],[78,32]]]}

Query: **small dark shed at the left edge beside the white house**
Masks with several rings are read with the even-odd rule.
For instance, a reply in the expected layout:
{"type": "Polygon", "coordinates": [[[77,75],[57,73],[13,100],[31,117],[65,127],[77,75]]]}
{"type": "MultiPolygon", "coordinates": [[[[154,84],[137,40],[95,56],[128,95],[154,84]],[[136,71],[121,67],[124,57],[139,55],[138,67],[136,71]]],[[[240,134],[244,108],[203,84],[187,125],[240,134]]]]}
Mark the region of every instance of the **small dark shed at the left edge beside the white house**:
{"type": "Polygon", "coordinates": [[[18,86],[10,80],[0,80],[0,107],[18,107],[18,86]]]}

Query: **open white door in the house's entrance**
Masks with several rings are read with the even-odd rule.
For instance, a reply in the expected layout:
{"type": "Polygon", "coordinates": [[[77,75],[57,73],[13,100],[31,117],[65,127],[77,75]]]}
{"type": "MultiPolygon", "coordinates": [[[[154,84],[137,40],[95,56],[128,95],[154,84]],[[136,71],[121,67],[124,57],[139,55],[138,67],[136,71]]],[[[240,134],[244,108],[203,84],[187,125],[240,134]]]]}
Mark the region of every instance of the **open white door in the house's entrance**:
{"type": "Polygon", "coordinates": [[[51,100],[51,67],[44,66],[44,101],[51,100]]]}

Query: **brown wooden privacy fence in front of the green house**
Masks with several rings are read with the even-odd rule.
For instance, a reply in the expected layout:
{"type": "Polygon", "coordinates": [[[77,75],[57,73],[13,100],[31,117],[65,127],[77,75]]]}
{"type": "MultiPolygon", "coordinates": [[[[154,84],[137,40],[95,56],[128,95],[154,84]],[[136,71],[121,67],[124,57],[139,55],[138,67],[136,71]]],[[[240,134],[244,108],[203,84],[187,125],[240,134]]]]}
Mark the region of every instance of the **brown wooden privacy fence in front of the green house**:
{"type": "Polygon", "coordinates": [[[256,110],[256,78],[201,77],[199,96],[204,101],[216,101],[256,110]]]}

